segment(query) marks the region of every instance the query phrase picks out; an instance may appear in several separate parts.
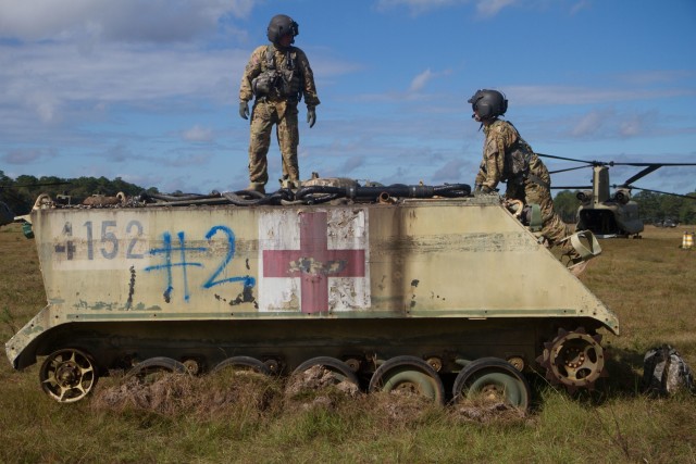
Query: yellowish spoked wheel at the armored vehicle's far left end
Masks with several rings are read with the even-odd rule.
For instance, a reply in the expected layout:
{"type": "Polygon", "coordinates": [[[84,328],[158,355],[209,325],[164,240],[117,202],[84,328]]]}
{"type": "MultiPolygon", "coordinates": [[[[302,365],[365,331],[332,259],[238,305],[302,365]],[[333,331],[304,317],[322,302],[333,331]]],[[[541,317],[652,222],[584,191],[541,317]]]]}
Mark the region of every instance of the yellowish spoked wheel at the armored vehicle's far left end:
{"type": "Polygon", "coordinates": [[[98,378],[91,356],[72,348],[49,354],[39,369],[41,388],[60,403],[82,400],[94,390],[98,378]]]}

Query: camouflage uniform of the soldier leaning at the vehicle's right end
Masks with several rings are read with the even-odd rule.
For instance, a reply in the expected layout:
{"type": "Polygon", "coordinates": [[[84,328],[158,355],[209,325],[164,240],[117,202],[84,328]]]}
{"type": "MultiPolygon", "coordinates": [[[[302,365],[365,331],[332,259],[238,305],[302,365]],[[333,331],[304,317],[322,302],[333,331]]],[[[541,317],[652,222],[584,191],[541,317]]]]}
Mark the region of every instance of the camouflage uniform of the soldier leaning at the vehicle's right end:
{"type": "MultiPolygon", "coordinates": [[[[493,190],[499,181],[506,181],[506,198],[521,200],[524,204],[538,204],[542,210],[542,235],[548,240],[549,246],[558,244],[570,233],[566,223],[554,211],[550,190],[551,177],[548,170],[534,153],[532,147],[520,137],[511,123],[495,120],[492,124],[484,125],[483,131],[486,135],[486,140],[475,184],[493,190]],[[525,171],[526,168],[526,166],[518,166],[518,168],[512,166],[514,156],[511,153],[514,150],[524,153],[529,171],[513,173],[513,171],[525,171]]],[[[562,242],[561,251],[571,260],[579,258],[577,252],[570,244],[570,240],[562,242]]]]}

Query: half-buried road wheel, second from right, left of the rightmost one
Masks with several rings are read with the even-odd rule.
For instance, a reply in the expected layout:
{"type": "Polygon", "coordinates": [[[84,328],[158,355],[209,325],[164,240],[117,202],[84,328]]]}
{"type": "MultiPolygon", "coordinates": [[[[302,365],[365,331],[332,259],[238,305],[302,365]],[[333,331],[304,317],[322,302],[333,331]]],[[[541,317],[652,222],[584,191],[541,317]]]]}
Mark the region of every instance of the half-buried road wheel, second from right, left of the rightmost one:
{"type": "Polygon", "coordinates": [[[415,356],[396,356],[382,364],[370,379],[370,391],[419,394],[438,404],[445,402],[445,387],[435,369],[415,356]]]}

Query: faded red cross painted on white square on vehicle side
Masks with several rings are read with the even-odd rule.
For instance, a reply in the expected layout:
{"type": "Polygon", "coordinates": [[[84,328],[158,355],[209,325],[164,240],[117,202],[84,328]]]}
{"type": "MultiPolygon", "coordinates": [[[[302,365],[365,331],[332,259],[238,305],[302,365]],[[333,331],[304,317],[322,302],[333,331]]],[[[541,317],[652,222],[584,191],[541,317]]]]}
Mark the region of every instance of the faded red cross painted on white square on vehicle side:
{"type": "Polygon", "coordinates": [[[263,277],[300,277],[303,313],[328,311],[328,277],[364,277],[365,250],[330,250],[327,213],[300,213],[299,250],[263,250],[263,277]]]}

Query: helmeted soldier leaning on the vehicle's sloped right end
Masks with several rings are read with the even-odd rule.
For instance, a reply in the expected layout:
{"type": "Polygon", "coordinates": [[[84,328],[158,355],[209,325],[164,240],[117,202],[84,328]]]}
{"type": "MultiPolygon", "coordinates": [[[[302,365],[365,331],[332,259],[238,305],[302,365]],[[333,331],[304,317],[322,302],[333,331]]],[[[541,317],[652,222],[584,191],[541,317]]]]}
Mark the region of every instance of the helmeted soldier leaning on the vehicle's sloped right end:
{"type": "Polygon", "coordinates": [[[551,177],[542,160],[532,147],[520,137],[512,123],[502,121],[508,110],[508,100],[497,90],[477,90],[469,99],[473,117],[480,122],[486,136],[483,146],[483,160],[476,179],[474,192],[489,193],[498,183],[507,183],[505,197],[520,200],[524,204],[535,203],[542,211],[542,235],[550,247],[560,243],[561,252],[582,272],[584,263],[570,243],[561,241],[570,235],[568,226],[554,211],[551,199],[551,177]],[[581,265],[582,264],[582,265],[581,265]]]}

